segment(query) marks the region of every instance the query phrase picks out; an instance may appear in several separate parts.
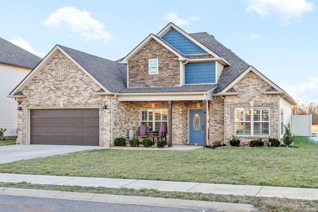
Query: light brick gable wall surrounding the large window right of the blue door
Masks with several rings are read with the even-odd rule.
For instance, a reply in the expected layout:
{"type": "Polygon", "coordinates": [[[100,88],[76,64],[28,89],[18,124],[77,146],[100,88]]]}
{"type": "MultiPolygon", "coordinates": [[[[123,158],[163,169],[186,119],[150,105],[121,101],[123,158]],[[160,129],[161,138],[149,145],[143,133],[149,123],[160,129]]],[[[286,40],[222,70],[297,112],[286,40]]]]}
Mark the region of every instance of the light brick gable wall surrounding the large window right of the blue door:
{"type": "Polygon", "coordinates": [[[269,136],[237,136],[241,145],[255,138],[278,138],[278,96],[267,95],[264,92],[270,87],[263,79],[253,72],[248,72],[234,88],[239,92],[238,96],[226,96],[225,100],[225,137],[226,142],[235,135],[235,108],[251,107],[250,101],[254,101],[253,107],[269,107],[269,136]]]}

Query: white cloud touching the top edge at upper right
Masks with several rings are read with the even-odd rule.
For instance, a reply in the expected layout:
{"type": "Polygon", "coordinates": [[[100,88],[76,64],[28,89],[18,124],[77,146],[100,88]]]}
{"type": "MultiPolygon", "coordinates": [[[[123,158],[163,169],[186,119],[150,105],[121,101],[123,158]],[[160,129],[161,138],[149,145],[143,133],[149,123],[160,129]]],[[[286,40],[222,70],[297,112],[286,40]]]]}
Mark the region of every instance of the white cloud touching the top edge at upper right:
{"type": "Polygon", "coordinates": [[[257,12],[261,16],[271,12],[279,16],[280,21],[289,24],[299,20],[303,14],[314,11],[315,5],[307,0],[249,0],[246,12],[257,12]]]}

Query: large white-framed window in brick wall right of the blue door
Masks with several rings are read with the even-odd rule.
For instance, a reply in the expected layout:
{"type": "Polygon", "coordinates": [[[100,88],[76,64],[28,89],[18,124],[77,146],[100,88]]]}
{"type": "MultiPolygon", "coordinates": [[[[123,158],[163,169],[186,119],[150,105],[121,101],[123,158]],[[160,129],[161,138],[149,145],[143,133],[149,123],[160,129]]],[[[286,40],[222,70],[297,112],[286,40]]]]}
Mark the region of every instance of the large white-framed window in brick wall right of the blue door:
{"type": "Polygon", "coordinates": [[[236,135],[269,135],[269,108],[236,108],[236,135]]]}

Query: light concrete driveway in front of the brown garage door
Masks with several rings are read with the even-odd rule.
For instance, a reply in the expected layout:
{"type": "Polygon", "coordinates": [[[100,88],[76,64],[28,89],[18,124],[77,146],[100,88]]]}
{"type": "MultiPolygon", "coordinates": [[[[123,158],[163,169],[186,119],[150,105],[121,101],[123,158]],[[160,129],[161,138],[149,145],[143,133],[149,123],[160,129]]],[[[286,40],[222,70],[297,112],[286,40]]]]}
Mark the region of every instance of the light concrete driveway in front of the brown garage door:
{"type": "Polygon", "coordinates": [[[97,146],[68,146],[68,145],[8,145],[0,146],[0,163],[21,159],[64,155],[85,150],[105,149],[97,146]]]}

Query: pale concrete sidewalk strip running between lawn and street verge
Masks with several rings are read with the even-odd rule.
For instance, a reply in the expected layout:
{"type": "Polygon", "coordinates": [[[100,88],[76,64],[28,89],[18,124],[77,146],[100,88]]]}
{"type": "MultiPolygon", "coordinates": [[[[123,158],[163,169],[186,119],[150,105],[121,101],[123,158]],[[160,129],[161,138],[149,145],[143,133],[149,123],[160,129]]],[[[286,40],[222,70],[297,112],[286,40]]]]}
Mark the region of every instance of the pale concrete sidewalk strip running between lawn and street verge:
{"type": "Polygon", "coordinates": [[[288,199],[318,200],[318,189],[272,186],[227,185],[194,182],[171,182],[136,179],[112,179],[96,177],[68,177],[0,173],[2,182],[27,182],[35,184],[79,185],[108,188],[156,189],[158,191],[201,192],[222,195],[246,195],[254,197],[279,197],[288,199]]]}

